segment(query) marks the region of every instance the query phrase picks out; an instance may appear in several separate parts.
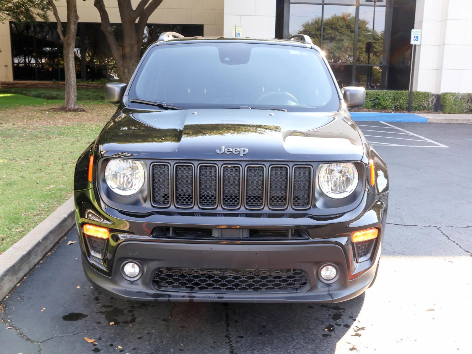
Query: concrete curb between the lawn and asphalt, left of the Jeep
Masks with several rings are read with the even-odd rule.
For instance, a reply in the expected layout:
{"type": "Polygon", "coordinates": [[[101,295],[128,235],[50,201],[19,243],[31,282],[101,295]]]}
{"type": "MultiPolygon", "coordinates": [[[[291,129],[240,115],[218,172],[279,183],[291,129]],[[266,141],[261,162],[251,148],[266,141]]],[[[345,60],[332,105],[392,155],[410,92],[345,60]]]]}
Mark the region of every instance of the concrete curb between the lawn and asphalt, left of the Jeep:
{"type": "Polygon", "coordinates": [[[70,197],[0,255],[0,301],[73,225],[74,199],[70,197]]]}

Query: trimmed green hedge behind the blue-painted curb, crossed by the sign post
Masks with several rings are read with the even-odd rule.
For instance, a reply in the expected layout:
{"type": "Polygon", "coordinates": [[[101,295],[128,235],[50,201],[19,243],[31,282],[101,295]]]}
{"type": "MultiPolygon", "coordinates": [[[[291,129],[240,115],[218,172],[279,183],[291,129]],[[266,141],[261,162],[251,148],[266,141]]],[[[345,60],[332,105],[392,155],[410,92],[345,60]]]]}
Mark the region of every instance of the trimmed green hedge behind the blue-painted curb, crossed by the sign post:
{"type": "MultiPolygon", "coordinates": [[[[367,90],[364,108],[406,111],[408,109],[408,99],[409,91],[367,90]]],[[[435,103],[435,94],[423,91],[413,91],[413,111],[432,111],[435,103]]]]}

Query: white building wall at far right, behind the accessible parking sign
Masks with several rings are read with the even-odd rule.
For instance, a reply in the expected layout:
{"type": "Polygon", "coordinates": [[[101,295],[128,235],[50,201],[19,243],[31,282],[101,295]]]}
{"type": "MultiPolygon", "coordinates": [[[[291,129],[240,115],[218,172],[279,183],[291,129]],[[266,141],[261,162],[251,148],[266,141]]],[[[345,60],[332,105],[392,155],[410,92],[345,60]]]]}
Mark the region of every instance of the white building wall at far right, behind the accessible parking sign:
{"type": "Polygon", "coordinates": [[[417,0],[414,90],[472,92],[472,0],[417,0]]]}

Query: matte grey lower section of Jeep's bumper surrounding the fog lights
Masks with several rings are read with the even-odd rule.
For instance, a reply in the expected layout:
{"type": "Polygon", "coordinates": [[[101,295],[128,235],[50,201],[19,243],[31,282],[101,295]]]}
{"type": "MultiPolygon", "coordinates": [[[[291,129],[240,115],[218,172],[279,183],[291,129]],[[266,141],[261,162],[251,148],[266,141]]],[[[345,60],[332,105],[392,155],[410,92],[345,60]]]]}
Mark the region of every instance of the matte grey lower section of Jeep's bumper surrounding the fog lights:
{"type": "Polygon", "coordinates": [[[362,294],[371,284],[378,262],[361,276],[349,280],[343,248],[334,244],[312,245],[195,245],[185,243],[126,242],[118,246],[111,276],[98,272],[84,257],[87,278],[110,296],[128,300],[201,301],[201,302],[312,302],[335,303],[362,294]],[[143,275],[135,281],[121,275],[126,261],[139,263],[143,275]],[[334,263],[340,271],[333,284],[324,284],[318,269],[334,263]],[[301,269],[308,274],[310,286],[300,292],[270,290],[252,293],[201,291],[159,291],[152,284],[154,270],[160,267],[301,269]]]}

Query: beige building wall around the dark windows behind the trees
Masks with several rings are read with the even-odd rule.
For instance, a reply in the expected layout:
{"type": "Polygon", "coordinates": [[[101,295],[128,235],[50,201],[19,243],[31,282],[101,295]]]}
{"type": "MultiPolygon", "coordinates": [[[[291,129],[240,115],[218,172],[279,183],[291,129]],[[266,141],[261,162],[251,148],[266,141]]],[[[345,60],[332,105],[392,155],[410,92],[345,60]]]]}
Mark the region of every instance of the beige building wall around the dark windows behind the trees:
{"type": "MultiPolygon", "coordinates": [[[[121,22],[117,0],[103,1],[110,16],[110,22],[121,22]]],[[[236,2],[236,0],[234,1],[236,2]]],[[[139,0],[132,0],[133,6],[138,3],[139,0]]],[[[204,36],[221,36],[223,35],[223,5],[224,0],[164,0],[149,16],[148,23],[203,25],[204,36]]],[[[66,22],[66,0],[58,0],[56,6],[62,22],[66,22]]],[[[77,0],[77,13],[79,22],[101,22],[100,14],[93,6],[92,0],[77,0]]],[[[51,21],[54,19],[52,13],[50,19],[51,21]]],[[[0,81],[12,81],[13,70],[8,22],[0,23],[0,50],[0,81]]]]}

